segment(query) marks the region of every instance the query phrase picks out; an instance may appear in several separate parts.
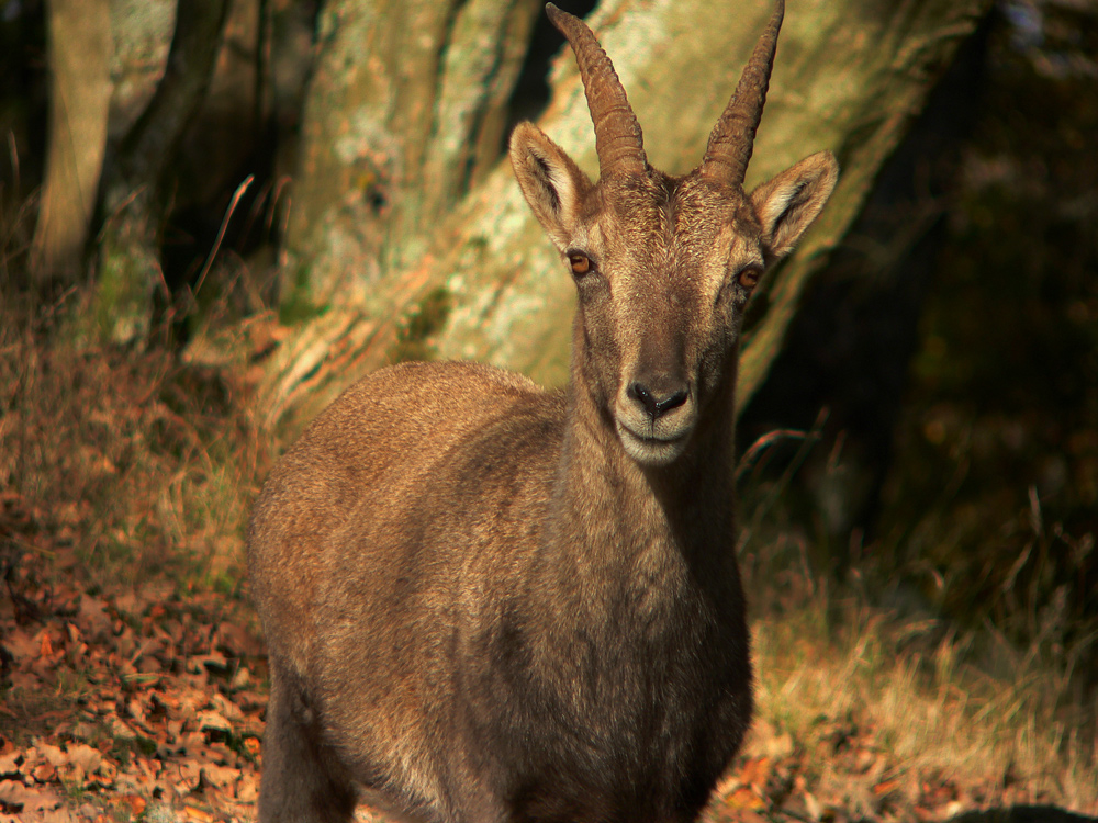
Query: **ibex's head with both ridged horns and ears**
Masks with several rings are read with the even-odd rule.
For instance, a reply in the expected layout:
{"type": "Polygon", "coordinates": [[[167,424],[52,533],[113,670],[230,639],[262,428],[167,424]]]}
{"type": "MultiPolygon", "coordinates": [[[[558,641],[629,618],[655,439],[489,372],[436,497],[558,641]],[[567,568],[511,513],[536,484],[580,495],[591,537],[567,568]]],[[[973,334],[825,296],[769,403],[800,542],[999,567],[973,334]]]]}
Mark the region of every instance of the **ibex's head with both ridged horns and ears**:
{"type": "Polygon", "coordinates": [[[511,159],[575,281],[573,381],[591,392],[642,466],[675,461],[707,404],[731,392],[748,298],[816,219],[838,179],[834,157],[820,151],[743,191],[784,5],[777,1],[701,165],[681,178],[648,164],[625,89],[591,30],[546,7],[575,53],[600,180],[593,183],[533,123],[515,129],[511,159]]]}

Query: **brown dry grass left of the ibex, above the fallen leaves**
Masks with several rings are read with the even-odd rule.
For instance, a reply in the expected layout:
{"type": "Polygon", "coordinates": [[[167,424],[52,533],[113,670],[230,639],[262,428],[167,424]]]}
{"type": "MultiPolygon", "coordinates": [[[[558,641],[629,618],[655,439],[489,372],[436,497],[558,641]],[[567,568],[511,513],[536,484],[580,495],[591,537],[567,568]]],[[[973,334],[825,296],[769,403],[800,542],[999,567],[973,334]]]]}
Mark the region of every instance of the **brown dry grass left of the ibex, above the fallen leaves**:
{"type": "Polygon", "coordinates": [[[92,585],[169,574],[239,590],[244,529],[269,454],[245,383],[160,349],[81,342],[68,319],[78,295],[53,311],[13,303],[0,318],[9,516],[71,543],[92,585]]]}

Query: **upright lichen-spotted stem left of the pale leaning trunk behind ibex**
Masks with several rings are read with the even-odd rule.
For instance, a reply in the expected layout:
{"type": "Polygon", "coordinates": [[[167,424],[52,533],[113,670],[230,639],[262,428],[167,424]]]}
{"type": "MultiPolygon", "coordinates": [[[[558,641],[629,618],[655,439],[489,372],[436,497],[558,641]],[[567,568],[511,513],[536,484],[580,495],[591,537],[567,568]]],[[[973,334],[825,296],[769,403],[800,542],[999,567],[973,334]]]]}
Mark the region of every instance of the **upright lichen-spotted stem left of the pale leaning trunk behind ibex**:
{"type": "Polygon", "coordinates": [[[283,316],[368,306],[498,156],[537,3],[329,0],[305,104],[283,316]]]}

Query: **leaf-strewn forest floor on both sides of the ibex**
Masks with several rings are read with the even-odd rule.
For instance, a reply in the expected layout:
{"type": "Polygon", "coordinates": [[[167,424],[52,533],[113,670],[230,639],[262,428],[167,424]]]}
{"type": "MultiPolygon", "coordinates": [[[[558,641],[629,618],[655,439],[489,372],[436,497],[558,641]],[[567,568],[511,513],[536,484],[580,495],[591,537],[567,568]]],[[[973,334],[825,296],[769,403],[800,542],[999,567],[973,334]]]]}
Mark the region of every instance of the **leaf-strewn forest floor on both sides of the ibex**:
{"type": "MultiPolygon", "coordinates": [[[[244,599],[167,580],[87,590],[65,534],[37,531],[34,508],[13,494],[0,504],[8,539],[23,550],[0,600],[0,821],[254,820],[267,685],[244,599]]],[[[905,754],[899,726],[879,722],[879,700],[860,697],[856,677],[818,659],[850,666],[872,650],[817,647],[791,659],[773,634],[757,621],[759,717],[706,821],[1094,820],[1057,811],[1065,805],[1098,814],[1098,781],[1086,786],[1094,770],[1026,763],[1017,741],[1006,762],[993,741],[939,757],[905,754]],[[797,706],[794,667],[832,678],[833,692],[849,697],[797,706]],[[987,816],[963,816],[979,811],[987,816]]],[[[863,644],[869,636],[861,633],[863,644]]],[[[869,675],[882,692],[896,687],[893,675],[869,675]]],[[[923,712],[926,696],[907,689],[898,699],[908,706],[894,696],[886,710],[923,712]]],[[[953,745],[970,745],[950,725],[965,710],[951,720],[933,702],[953,745]]]]}

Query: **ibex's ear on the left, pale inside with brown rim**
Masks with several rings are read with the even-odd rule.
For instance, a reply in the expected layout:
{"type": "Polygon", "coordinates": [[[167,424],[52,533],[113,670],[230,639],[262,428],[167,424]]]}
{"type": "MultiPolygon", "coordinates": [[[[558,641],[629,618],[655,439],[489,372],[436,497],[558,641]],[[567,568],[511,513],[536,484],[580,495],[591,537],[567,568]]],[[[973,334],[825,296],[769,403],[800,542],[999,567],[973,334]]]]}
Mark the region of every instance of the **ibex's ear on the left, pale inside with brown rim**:
{"type": "Polygon", "coordinates": [[[519,123],[512,133],[511,165],[534,216],[564,251],[575,236],[591,180],[533,123],[519,123]]]}

